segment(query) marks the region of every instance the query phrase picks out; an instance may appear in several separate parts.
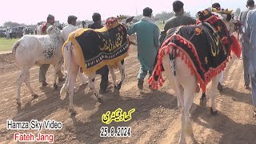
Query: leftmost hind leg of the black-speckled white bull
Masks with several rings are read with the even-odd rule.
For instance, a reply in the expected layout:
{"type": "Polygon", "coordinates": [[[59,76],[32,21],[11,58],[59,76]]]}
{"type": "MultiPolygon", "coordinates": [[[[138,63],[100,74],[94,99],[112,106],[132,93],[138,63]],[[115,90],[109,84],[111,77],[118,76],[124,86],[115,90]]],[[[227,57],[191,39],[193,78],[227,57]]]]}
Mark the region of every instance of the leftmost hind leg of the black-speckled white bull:
{"type": "Polygon", "coordinates": [[[22,82],[25,81],[26,79],[26,71],[25,69],[21,70],[21,74],[19,74],[18,78],[17,78],[17,94],[16,94],[16,103],[18,104],[18,106],[21,106],[21,86],[22,86],[22,82]]]}

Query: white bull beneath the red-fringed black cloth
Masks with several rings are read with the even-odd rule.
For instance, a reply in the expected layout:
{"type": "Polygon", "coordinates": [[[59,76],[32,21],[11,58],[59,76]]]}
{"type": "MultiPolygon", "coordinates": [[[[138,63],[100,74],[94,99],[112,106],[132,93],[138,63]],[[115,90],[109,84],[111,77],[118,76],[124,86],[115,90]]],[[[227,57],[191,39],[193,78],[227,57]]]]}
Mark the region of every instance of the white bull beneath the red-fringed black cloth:
{"type": "MultiPolygon", "coordinates": [[[[230,28],[230,22],[225,22],[226,26],[230,28]]],[[[233,33],[234,29],[229,29],[230,34],[233,33]]],[[[174,46],[169,46],[170,52],[174,49],[174,46]]],[[[195,74],[191,74],[190,68],[187,66],[185,60],[182,57],[175,57],[174,60],[170,60],[170,52],[163,50],[162,66],[166,72],[166,77],[170,83],[170,87],[174,90],[178,99],[178,108],[182,113],[182,130],[179,139],[179,143],[186,143],[186,134],[196,142],[190,122],[190,108],[194,101],[196,91],[198,91],[198,79],[195,74]],[[176,75],[174,75],[174,70],[176,75]]],[[[218,81],[220,74],[217,74],[212,79],[212,86],[210,91],[211,98],[211,114],[217,114],[215,108],[215,97],[217,92],[218,81]]]]}

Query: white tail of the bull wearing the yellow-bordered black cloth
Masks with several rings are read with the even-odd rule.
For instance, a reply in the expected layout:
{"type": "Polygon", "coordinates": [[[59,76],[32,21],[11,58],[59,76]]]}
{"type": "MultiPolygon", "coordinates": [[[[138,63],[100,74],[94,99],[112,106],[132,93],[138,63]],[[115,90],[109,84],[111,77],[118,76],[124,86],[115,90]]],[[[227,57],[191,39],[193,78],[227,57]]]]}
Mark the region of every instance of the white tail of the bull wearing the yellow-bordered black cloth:
{"type": "Polygon", "coordinates": [[[70,61],[71,61],[71,42],[65,43],[63,46],[63,57],[64,57],[64,71],[66,74],[66,82],[62,86],[60,91],[61,99],[66,98],[66,93],[68,92],[69,77],[70,77],[70,61]]]}

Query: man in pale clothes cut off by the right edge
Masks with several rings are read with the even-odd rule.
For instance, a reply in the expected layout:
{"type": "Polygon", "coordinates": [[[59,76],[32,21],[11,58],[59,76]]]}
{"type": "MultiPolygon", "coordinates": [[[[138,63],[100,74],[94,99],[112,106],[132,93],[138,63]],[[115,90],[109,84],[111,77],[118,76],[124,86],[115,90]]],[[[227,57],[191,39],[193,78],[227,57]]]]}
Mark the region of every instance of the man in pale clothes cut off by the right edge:
{"type": "Polygon", "coordinates": [[[244,37],[250,42],[249,46],[249,74],[254,105],[254,117],[256,117],[256,10],[250,10],[246,17],[244,37]]]}

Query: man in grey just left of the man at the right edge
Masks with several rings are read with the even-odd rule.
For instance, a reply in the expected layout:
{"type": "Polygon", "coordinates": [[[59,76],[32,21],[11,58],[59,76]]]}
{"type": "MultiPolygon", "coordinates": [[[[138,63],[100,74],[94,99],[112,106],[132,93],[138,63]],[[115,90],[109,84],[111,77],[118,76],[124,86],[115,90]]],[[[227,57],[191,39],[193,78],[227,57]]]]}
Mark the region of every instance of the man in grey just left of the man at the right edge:
{"type": "Polygon", "coordinates": [[[250,85],[250,75],[249,75],[249,48],[250,48],[250,39],[246,38],[244,35],[244,26],[246,25],[246,16],[250,10],[254,9],[254,0],[248,0],[246,2],[247,10],[244,10],[239,15],[239,21],[242,22],[242,26],[240,28],[240,33],[242,34],[241,42],[242,42],[242,62],[243,62],[243,78],[245,81],[245,88],[249,89],[250,85]]]}

